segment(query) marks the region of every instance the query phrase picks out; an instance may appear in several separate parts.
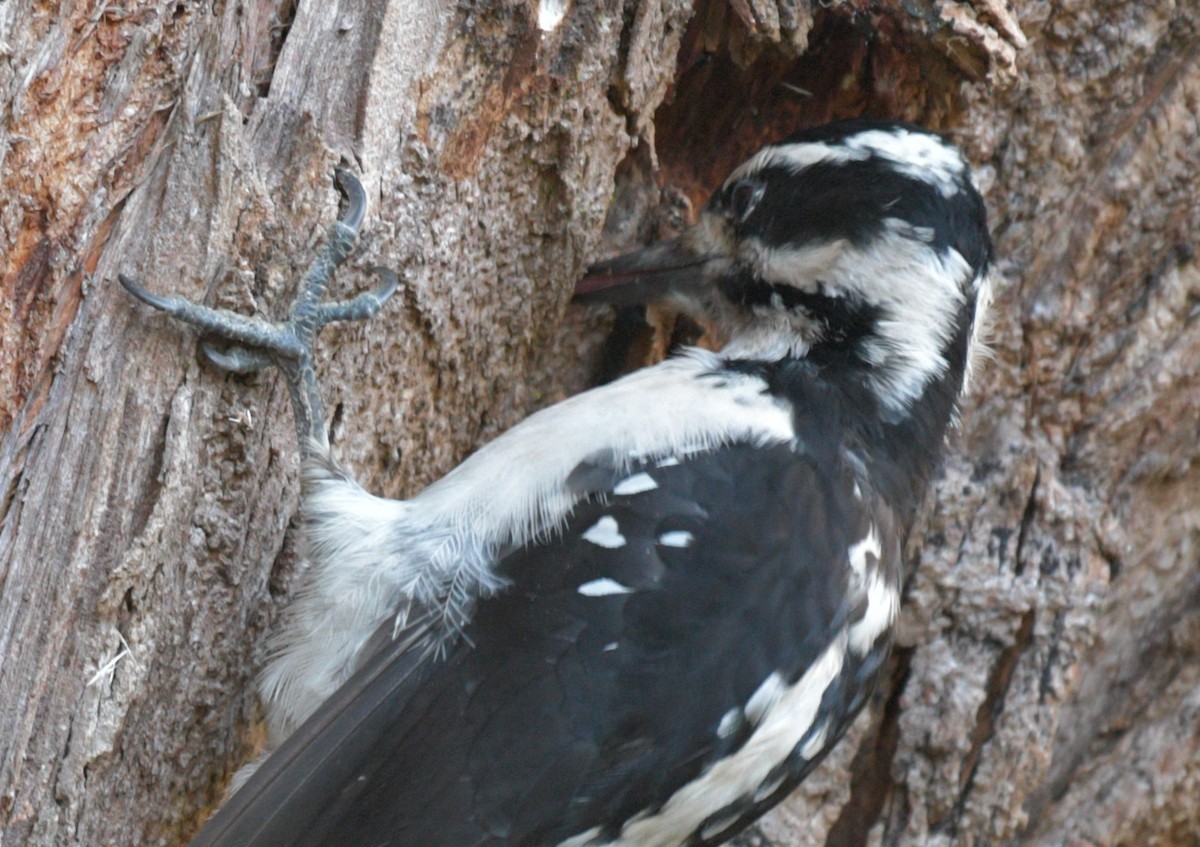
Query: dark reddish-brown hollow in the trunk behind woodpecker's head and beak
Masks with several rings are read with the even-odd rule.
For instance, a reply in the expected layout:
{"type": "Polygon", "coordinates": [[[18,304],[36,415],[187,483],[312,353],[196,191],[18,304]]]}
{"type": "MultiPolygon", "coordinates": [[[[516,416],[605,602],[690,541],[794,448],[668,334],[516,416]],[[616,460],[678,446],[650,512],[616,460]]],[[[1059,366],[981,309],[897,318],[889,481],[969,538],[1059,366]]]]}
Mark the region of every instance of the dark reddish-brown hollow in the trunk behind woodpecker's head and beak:
{"type": "MultiPolygon", "coordinates": [[[[808,47],[796,55],[750,32],[726,0],[701,0],[672,90],[654,116],[654,156],[641,144],[617,170],[605,252],[672,238],[688,222],[678,218],[694,220],[742,161],[799,130],[857,116],[946,128],[961,79],[944,55],[910,40],[892,19],[817,8],[808,47]]],[[[646,364],[648,350],[662,348],[649,341],[654,331],[625,311],[599,380],[646,364]]],[[[686,328],[665,331],[668,347],[697,338],[686,328]]]]}

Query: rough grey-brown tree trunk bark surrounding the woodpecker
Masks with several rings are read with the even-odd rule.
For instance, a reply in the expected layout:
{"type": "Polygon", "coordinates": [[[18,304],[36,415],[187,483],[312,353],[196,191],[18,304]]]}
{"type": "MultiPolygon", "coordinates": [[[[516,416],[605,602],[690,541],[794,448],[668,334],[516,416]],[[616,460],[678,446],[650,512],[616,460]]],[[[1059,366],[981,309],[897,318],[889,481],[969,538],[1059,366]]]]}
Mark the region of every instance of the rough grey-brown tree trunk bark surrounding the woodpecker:
{"type": "Polygon", "coordinates": [[[978,164],[995,355],[887,684],[743,843],[1200,843],[1193,4],[10,0],[0,59],[0,843],[186,840],[294,582],[278,378],[200,364],[119,270],[280,313],[360,170],[335,289],[406,289],[319,367],[401,497],[587,383],[599,250],[864,113],[978,164]]]}

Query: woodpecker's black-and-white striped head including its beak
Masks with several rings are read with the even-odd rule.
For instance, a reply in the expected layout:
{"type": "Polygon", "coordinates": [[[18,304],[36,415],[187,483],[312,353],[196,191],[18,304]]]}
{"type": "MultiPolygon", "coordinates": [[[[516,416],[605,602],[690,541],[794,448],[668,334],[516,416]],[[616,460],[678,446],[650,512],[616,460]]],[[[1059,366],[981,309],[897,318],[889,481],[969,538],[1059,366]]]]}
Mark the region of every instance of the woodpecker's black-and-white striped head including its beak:
{"type": "Polygon", "coordinates": [[[916,126],[854,120],[763,148],[678,239],[593,266],[577,298],[665,300],[734,359],[862,367],[901,410],[964,379],[991,259],[959,150],[916,126]]]}

